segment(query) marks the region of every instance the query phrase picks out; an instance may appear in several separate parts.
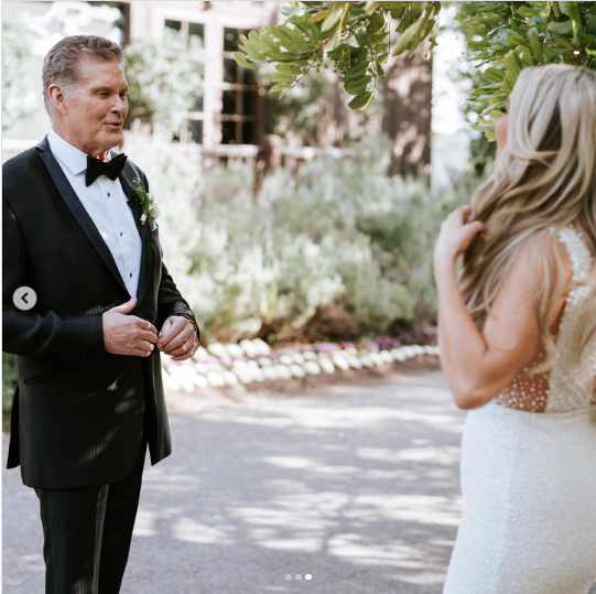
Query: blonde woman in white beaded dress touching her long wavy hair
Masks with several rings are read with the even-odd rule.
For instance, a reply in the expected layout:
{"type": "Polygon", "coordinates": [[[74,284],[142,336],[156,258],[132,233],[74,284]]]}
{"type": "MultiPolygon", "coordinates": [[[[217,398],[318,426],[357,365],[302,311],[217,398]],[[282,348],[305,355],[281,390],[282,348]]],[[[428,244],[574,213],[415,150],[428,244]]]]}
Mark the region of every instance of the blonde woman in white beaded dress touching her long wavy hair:
{"type": "Polygon", "coordinates": [[[587,594],[596,580],[596,72],[523,69],[496,134],[494,173],[442,224],[434,251],[441,363],[469,411],[444,594],[587,594]]]}

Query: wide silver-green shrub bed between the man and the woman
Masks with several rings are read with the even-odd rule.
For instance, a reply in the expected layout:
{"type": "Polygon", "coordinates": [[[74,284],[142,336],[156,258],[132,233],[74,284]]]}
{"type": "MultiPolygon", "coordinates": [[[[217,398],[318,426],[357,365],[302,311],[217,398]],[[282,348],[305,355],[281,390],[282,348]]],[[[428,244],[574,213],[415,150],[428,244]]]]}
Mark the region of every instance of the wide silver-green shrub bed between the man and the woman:
{"type": "Polygon", "coordinates": [[[269,326],[288,338],[330,303],[353,313],[361,336],[435,309],[434,238],[469,194],[388,177],[388,143],[366,139],[354,160],[314,160],[294,176],[278,170],[259,203],[252,163],[203,173],[184,147],[127,144],[150,172],[164,261],[206,341],[269,326]]]}

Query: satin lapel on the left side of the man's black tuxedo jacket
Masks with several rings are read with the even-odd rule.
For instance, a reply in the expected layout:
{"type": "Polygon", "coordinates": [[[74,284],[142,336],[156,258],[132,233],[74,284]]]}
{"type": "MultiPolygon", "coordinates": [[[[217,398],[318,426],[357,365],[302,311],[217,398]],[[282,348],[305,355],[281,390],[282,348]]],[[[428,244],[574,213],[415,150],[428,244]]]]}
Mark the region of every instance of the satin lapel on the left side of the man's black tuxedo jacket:
{"type": "MultiPolygon", "coordinates": [[[[68,209],[75,217],[76,222],[80,225],[80,227],[85,231],[85,235],[88,237],[89,241],[91,242],[94,248],[97,250],[97,253],[99,253],[99,257],[101,258],[101,260],[104,260],[104,263],[108,267],[108,270],[111,272],[113,278],[118,281],[118,284],[120,284],[120,287],[128,293],[129,291],[127,289],[127,285],[124,284],[124,281],[122,280],[122,276],[120,274],[120,271],[118,270],[118,266],[116,264],[116,261],[113,260],[113,256],[111,255],[110,249],[108,248],[106,241],[104,241],[104,238],[97,230],[95,223],[93,222],[91,217],[85,209],[85,206],[83,206],[83,203],[76,195],[75,191],[73,190],[73,186],[68,183],[66,175],[64,175],[62,168],[59,166],[58,162],[56,161],[56,158],[54,156],[54,154],[52,153],[50,149],[47,136],[37,144],[36,148],[40,151],[40,158],[42,159],[45,168],[47,169],[47,172],[50,173],[54,184],[56,185],[59,195],[66,203],[66,206],[68,207],[68,209]]],[[[142,234],[141,234],[141,237],[142,237],[142,234]]],[[[144,249],[143,249],[143,256],[144,256],[144,249]]],[[[142,267],[141,267],[141,273],[142,273],[142,267]]]]}

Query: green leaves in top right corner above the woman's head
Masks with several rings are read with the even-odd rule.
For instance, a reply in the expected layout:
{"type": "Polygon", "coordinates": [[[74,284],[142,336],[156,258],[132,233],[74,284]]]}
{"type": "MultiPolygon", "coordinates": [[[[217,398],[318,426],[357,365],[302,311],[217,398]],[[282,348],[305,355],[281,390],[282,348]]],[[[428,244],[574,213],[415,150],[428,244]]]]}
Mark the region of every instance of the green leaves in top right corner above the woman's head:
{"type": "Polygon", "coordinates": [[[596,2],[458,2],[456,20],[478,68],[470,110],[486,138],[522,68],[596,68],[596,2]]]}

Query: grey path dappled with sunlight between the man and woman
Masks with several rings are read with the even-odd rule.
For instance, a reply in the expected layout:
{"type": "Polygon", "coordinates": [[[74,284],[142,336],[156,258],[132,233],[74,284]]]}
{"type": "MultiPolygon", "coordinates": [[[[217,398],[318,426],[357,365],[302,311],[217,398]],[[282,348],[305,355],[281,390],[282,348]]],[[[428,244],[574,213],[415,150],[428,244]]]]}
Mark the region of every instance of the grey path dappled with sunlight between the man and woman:
{"type": "MultiPolygon", "coordinates": [[[[174,413],[122,594],[440,594],[465,413],[436,370],[372,384],[174,413]]],[[[3,585],[41,594],[37,498],[2,444],[3,585]]]]}

